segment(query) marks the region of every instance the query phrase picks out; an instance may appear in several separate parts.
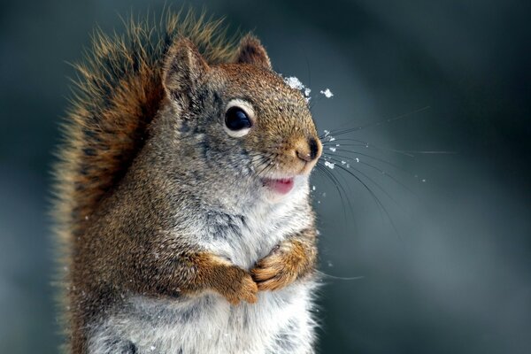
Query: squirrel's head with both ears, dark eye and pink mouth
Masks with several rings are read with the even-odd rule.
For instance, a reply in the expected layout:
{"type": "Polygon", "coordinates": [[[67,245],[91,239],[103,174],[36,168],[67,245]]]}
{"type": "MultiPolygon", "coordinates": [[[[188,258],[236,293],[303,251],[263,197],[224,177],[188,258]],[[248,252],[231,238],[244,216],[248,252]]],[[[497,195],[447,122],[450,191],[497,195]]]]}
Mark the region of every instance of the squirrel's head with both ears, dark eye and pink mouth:
{"type": "Polygon", "coordinates": [[[232,62],[220,65],[177,40],[162,82],[179,137],[201,147],[212,173],[273,201],[307,186],[322,150],[319,135],[304,96],[273,72],[258,39],[245,36],[232,62]]]}

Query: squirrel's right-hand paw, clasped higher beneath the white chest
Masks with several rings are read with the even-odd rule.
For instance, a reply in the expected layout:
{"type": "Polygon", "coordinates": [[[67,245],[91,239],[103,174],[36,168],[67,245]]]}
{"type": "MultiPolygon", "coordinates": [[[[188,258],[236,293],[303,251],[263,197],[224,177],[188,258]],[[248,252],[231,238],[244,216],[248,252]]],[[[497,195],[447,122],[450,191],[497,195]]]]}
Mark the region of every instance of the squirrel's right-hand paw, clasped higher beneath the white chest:
{"type": "Polygon", "coordinates": [[[250,271],[258,290],[278,290],[296,280],[301,255],[289,245],[277,246],[265,258],[258,260],[250,271]]]}

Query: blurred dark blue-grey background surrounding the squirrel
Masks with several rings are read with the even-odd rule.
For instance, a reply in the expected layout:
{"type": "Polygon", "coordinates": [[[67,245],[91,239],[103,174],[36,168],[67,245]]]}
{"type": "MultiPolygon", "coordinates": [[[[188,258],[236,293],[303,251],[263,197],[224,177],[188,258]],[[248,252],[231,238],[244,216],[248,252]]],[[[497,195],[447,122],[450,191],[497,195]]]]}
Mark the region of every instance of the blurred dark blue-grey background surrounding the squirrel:
{"type": "MultiPolygon", "coordinates": [[[[312,176],[319,352],[531,352],[531,3],[188,4],[254,31],[275,70],[312,89],[319,131],[336,139],[312,176]]],[[[0,4],[2,352],[60,341],[47,210],[66,63],[96,25],[120,32],[120,15],[163,6],[0,4]]]]}

